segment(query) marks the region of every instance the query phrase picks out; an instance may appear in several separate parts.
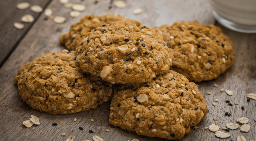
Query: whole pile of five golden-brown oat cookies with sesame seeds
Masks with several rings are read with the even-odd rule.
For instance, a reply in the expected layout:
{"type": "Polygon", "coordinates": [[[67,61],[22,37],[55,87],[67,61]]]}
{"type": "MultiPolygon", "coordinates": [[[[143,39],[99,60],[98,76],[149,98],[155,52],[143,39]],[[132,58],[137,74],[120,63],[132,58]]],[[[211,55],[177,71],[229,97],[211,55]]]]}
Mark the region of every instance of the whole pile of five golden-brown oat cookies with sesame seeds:
{"type": "Polygon", "coordinates": [[[30,107],[71,114],[112,99],[110,124],[166,139],[181,139],[206,117],[194,82],[235,62],[229,37],[197,21],[151,28],[120,15],[87,15],[60,42],[69,51],[36,58],[15,77],[30,107]]]}

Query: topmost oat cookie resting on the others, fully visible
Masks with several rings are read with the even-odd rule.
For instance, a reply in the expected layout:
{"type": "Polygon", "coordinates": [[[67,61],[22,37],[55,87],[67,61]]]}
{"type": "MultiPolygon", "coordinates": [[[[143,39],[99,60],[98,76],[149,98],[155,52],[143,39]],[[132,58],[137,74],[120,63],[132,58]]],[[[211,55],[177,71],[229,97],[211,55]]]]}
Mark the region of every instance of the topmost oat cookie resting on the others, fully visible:
{"type": "Polygon", "coordinates": [[[135,20],[97,27],[77,46],[80,67],[111,83],[143,83],[164,74],[172,54],[161,36],[135,20]],[[104,32],[103,32],[104,29],[104,32]]]}

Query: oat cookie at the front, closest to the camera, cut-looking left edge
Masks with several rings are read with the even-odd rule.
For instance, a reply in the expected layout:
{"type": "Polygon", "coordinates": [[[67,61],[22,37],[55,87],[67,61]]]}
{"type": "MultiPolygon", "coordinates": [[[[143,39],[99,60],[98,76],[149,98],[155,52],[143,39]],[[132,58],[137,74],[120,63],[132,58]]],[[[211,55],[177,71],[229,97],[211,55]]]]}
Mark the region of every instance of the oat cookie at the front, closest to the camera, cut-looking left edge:
{"type": "Polygon", "coordinates": [[[115,89],[109,122],[139,135],[181,139],[207,112],[196,84],[169,70],[148,83],[115,89]]]}

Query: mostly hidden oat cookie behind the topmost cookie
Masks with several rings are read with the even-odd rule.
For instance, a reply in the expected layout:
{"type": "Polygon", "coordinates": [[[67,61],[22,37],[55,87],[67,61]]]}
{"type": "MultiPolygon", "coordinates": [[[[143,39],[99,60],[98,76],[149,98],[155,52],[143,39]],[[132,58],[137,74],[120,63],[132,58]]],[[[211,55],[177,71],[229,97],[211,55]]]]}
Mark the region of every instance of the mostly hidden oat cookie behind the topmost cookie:
{"type": "Polygon", "coordinates": [[[88,32],[94,30],[96,27],[118,20],[127,20],[127,18],[113,14],[106,14],[104,16],[89,14],[82,17],[77,23],[72,24],[68,33],[62,33],[59,41],[68,50],[75,50],[79,42],[84,39],[88,32]]]}

